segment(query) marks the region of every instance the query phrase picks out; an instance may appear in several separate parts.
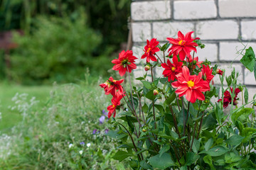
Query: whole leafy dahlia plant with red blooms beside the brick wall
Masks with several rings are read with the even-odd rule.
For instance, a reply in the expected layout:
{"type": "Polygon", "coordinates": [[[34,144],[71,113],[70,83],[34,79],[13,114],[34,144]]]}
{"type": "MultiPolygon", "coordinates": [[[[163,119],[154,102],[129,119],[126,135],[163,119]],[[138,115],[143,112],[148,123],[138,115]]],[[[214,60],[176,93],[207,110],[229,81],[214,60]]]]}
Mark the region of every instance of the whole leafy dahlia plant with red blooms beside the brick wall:
{"type": "MultiPolygon", "coordinates": [[[[196,47],[204,45],[191,38],[192,33],[179,31],[178,38],[167,38],[162,46],[156,38],[147,40],[142,56],[145,74],[137,78],[142,86],[130,84],[127,91],[123,79],[112,77],[100,84],[106,95],[112,95],[107,110],[113,130],[107,135],[120,143],[113,159],[131,159],[132,169],[255,169],[255,98],[248,101],[235,69],[225,77],[217,65],[210,67],[207,60],[194,57],[196,47]],[[155,77],[157,67],[163,67],[164,77],[155,77]],[[220,87],[212,81],[217,74],[220,87]],[[213,102],[219,89],[221,98],[213,102]]],[[[252,69],[248,57],[255,60],[251,47],[241,62],[252,69]]],[[[130,81],[134,60],[132,51],[123,51],[112,60],[113,69],[120,76],[128,74],[130,81]]]]}

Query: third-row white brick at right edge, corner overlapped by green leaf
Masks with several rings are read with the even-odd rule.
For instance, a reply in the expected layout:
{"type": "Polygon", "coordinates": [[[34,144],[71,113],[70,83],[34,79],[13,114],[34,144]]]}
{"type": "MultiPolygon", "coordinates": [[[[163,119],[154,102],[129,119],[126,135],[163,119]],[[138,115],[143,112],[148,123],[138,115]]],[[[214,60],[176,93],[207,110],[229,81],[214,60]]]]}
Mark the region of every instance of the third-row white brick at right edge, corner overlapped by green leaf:
{"type": "MultiPolygon", "coordinates": [[[[256,49],[255,42],[243,42],[247,45],[246,48],[252,46],[252,49],[256,49]]],[[[239,61],[242,58],[242,54],[245,53],[244,45],[241,42],[220,42],[220,61],[239,61]]]]}

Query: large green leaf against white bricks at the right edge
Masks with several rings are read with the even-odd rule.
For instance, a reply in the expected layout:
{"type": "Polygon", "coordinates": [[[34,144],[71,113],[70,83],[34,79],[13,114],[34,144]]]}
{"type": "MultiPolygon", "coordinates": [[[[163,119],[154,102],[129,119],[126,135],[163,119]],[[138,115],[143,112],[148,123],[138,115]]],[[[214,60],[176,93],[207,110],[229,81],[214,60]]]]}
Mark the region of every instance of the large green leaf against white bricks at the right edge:
{"type": "Polygon", "coordinates": [[[252,50],[252,47],[249,47],[245,50],[245,55],[242,57],[240,62],[250,70],[253,71],[253,67],[255,66],[255,53],[252,50]]]}

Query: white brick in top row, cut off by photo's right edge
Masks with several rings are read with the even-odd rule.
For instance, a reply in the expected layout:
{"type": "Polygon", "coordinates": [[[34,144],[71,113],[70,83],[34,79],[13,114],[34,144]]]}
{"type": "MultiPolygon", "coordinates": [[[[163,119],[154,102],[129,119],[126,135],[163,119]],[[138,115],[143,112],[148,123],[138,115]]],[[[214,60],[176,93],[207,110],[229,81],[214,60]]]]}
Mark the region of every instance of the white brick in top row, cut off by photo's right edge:
{"type": "Polygon", "coordinates": [[[220,17],[255,17],[255,0],[219,0],[220,17]]]}

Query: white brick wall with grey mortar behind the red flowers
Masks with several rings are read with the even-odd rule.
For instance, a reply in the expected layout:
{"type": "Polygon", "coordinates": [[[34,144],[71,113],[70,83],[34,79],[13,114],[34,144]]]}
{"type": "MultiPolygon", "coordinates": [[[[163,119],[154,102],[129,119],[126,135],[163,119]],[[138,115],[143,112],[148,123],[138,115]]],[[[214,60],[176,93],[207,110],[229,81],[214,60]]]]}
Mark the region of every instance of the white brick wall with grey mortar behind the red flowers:
{"type": "MultiPolygon", "coordinates": [[[[242,55],[236,54],[245,45],[256,52],[256,0],[134,0],[131,16],[132,50],[137,50],[138,58],[146,40],[157,38],[163,45],[166,38],[177,38],[178,30],[184,34],[193,30],[193,37],[206,45],[198,49],[199,61],[217,63],[226,74],[231,73],[232,63],[240,72],[239,83],[249,85],[250,94],[256,93],[254,74],[239,62],[242,55]]],[[[161,71],[156,73],[161,76],[161,71]]],[[[220,83],[216,77],[214,81],[220,83]]]]}

